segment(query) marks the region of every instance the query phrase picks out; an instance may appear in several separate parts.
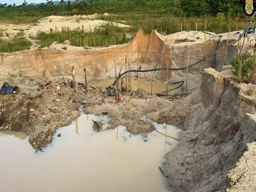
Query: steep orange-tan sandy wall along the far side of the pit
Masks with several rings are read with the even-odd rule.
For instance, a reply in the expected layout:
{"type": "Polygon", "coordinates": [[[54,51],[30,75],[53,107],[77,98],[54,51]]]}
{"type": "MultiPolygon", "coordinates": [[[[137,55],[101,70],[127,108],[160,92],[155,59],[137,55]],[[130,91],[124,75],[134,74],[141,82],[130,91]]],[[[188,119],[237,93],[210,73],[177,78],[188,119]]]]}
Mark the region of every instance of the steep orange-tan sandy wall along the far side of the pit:
{"type": "MultiPolygon", "coordinates": [[[[83,69],[86,68],[87,74],[91,78],[104,79],[114,77],[114,62],[116,62],[118,69],[122,68],[122,72],[125,70],[125,55],[127,55],[127,63],[130,62],[131,69],[137,69],[140,63],[142,69],[150,69],[151,64],[153,68],[166,67],[166,58],[169,67],[178,68],[186,66],[188,49],[190,49],[190,64],[204,57],[202,34],[202,32],[188,31],[162,36],[155,30],[152,30],[150,34],[144,34],[140,29],[130,44],[107,48],[81,47],[80,50],[72,50],[68,46],[67,50],[43,48],[1,54],[0,78],[28,76],[33,79],[43,79],[54,76],[70,76],[71,67],[74,65],[77,76],[82,77],[83,69]],[[184,38],[188,39],[188,36],[190,36],[190,42],[183,42],[184,38]],[[193,36],[193,41],[191,36],[193,36]],[[197,39],[197,37],[200,37],[200,39],[197,39]]],[[[209,37],[208,53],[215,50],[217,39],[218,36],[209,37]]],[[[225,38],[220,41],[220,44],[226,44],[225,38]]],[[[227,62],[233,55],[234,49],[233,46],[228,48],[227,62]]],[[[217,54],[216,66],[218,68],[223,64],[223,54],[217,54]]],[[[189,69],[189,86],[190,84],[196,86],[200,81],[200,73],[209,66],[212,66],[212,58],[208,59],[207,65],[202,62],[198,66],[189,69]]],[[[186,71],[168,73],[170,81],[175,81],[184,80],[186,71]]],[[[139,75],[144,76],[144,74],[139,75]]],[[[155,72],[154,77],[165,80],[166,72],[155,72]]]]}

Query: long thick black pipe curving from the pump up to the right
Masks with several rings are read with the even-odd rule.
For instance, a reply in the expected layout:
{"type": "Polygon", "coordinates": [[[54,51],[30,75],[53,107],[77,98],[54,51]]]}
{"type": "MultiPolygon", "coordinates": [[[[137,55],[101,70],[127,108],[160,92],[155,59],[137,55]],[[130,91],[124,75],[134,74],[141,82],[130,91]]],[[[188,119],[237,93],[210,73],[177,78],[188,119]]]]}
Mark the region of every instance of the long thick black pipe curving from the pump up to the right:
{"type": "MultiPolygon", "coordinates": [[[[246,25],[246,28],[244,29],[244,32],[242,33],[242,35],[239,36],[238,39],[228,43],[226,46],[230,46],[232,44],[235,44],[236,42],[238,42],[243,36],[244,34],[246,33],[246,31],[248,30],[249,26],[250,26],[250,23],[252,22],[254,16],[255,16],[256,12],[252,15],[252,17],[250,18],[250,20],[248,21],[247,25],[246,25]]],[[[211,54],[207,55],[206,57],[200,59],[199,61],[191,64],[188,66],[188,68],[191,68],[191,67],[194,67],[196,66],[197,64],[203,62],[204,60],[206,60],[206,58],[209,58],[210,56],[213,56],[214,54],[216,54],[218,51],[226,48],[226,46],[222,46],[221,48],[219,48],[218,50],[212,52],[211,54]]],[[[179,70],[185,70],[187,67],[181,67],[181,68],[168,68],[167,70],[171,70],[171,71],[179,71],[179,70]]],[[[120,74],[118,77],[117,77],[117,80],[122,77],[124,74],[128,73],[129,71],[130,72],[150,72],[150,71],[163,71],[163,70],[166,70],[166,68],[156,68],[156,69],[148,69],[148,70],[128,70],[126,72],[123,72],[122,74],[120,74]]],[[[113,85],[116,84],[116,80],[114,81],[113,85]]]]}

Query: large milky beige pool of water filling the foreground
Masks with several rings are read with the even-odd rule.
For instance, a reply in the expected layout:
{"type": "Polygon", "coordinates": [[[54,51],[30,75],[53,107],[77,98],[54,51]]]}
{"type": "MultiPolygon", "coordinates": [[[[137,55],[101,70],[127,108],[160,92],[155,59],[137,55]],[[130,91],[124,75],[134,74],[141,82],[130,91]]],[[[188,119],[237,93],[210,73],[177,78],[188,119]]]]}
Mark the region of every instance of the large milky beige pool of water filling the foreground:
{"type": "MultiPolygon", "coordinates": [[[[168,192],[159,166],[178,141],[157,132],[134,136],[119,126],[95,132],[93,120],[108,126],[108,116],[82,114],[70,126],[57,130],[43,152],[35,152],[28,137],[20,140],[0,133],[0,186],[8,192],[168,192]],[[57,134],[61,134],[58,138],[57,134]]],[[[146,120],[144,118],[144,120],[146,120]]],[[[148,120],[149,121],[149,120],[148,120]]],[[[165,133],[165,124],[154,123],[165,133]]],[[[180,129],[168,125],[167,135],[179,138],[180,129]]]]}

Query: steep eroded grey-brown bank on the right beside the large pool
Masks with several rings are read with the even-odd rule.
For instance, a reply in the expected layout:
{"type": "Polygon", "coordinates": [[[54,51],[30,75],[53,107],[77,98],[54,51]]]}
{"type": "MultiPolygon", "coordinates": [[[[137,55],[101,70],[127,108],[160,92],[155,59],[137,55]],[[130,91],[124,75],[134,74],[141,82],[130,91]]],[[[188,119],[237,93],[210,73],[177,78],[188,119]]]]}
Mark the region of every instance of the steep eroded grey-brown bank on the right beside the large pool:
{"type": "MultiPolygon", "coordinates": [[[[233,81],[229,72],[205,69],[201,86],[174,102],[158,120],[180,123],[185,130],[179,146],[164,163],[164,174],[175,191],[226,191],[228,172],[245,152],[246,144],[256,139],[256,96],[249,96],[249,85],[233,81]]],[[[235,173],[233,184],[241,174],[243,171],[235,173]]],[[[245,191],[251,191],[246,187],[245,191]]]]}

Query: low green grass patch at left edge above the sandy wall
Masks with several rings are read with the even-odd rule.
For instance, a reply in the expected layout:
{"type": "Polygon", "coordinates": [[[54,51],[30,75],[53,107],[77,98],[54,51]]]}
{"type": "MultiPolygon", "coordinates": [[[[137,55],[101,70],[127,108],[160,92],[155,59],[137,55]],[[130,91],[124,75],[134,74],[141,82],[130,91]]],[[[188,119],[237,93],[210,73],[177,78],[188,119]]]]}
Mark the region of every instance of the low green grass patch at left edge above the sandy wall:
{"type": "Polygon", "coordinates": [[[0,52],[14,52],[19,50],[28,50],[30,42],[24,38],[13,38],[12,41],[0,40],[0,52]]]}

